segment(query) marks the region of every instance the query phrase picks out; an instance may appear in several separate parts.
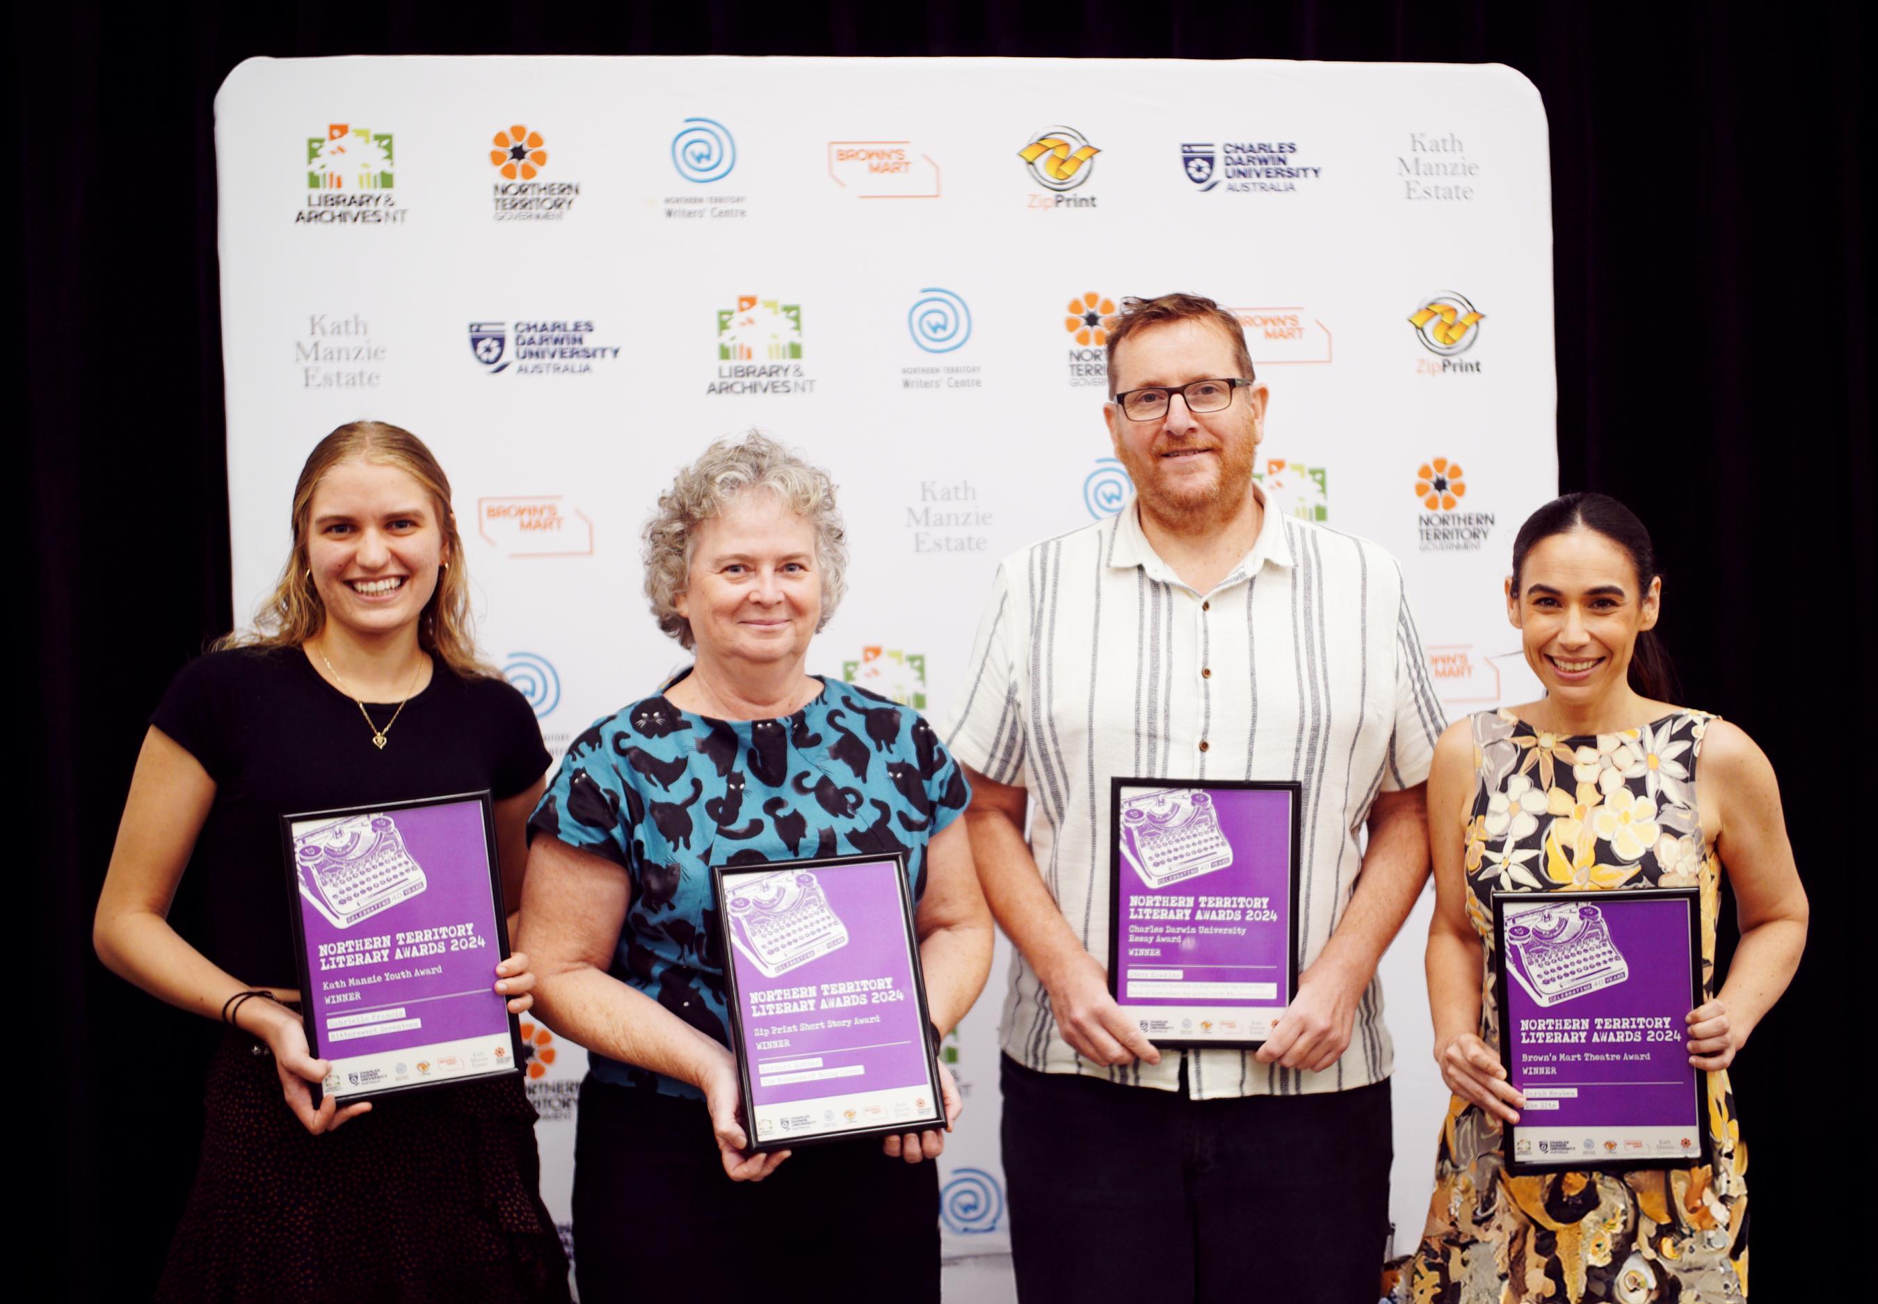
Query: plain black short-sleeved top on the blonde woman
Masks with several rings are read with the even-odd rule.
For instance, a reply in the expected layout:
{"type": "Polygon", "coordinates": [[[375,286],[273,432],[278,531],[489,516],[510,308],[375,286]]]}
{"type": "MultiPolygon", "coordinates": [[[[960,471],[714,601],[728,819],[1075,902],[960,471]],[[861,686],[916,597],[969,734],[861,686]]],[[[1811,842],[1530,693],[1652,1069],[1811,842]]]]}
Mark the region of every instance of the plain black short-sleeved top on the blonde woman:
{"type": "MultiPolygon", "coordinates": [[[[383,725],[396,703],[366,703],[383,725]]],[[[237,648],[190,661],[150,723],[208,778],[208,810],[188,876],[207,936],[190,941],[242,983],[299,986],[280,817],[289,812],[490,789],[515,797],[548,768],[528,701],[500,678],[462,678],[441,660],[385,750],[359,705],[300,648],[237,648]]],[[[513,909],[516,902],[509,902],[513,909]]]]}

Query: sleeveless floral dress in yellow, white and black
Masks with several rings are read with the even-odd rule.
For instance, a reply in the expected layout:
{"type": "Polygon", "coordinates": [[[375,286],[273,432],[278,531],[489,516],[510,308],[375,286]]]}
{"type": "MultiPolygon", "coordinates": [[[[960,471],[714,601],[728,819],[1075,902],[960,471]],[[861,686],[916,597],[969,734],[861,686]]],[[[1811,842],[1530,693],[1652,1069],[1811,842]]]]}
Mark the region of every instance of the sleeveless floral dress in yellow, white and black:
{"type": "MultiPolygon", "coordinates": [[[[1713,996],[1722,862],[1696,812],[1709,720],[1683,710],[1566,738],[1510,710],[1472,718],[1467,915],[1485,955],[1480,1039],[1495,1050],[1495,891],[1700,885],[1701,986],[1713,996]]],[[[1747,1298],[1747,1146],[1728,1075],[1707,1079],[1713,1169],[1508,1176],[1499,1120],[1452,1097],[1422,1246],[1390,1265],[1384,1285],[1403,1304],[1747,1298]]]]}

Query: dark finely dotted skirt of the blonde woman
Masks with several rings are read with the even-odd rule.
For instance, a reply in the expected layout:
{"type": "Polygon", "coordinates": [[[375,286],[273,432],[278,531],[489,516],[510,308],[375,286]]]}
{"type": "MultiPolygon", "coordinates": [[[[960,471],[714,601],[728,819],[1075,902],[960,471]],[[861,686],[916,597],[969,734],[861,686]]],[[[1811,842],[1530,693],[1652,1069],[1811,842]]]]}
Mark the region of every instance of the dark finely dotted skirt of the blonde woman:
{"type": "Polygon", "coordinates": [[[520,1075],[381,1099],[314,1137],[272,1056],[231,1032],[207,1109],[160,1300],[567,1300],[520,1075]]]}

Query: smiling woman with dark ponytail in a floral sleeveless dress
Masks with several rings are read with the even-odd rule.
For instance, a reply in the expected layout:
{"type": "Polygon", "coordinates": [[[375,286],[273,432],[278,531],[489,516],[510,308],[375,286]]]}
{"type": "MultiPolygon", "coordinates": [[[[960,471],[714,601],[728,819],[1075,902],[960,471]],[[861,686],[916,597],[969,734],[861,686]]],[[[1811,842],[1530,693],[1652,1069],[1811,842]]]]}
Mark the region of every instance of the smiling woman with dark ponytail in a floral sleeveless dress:
{"type": "Polygon", "coordinates": [[[1427,981],[1454,1101],[1427,1231],[1393,1266],[1397,1298],[1747,1298],[1747,1146],[1728,1065],[1799,966],[1807,894],[1773,767],[1735,725],[1675,705],[1660,614],[1649,532],[1615,498],[1566,494],[1519,528],[1506,616],[1546,695],[1457,722],[1435,748],[1427,981]],[[1724,862],[1741,945],[1715,990],[1724,862]],[[1501,1127],[1527,1103],[1501,1062],[1491,894],[1641,887],[1700,887],[1703,1001],[1685,1039],[1707,1075],[1715,1161],[1512,1176],[1501,1127]]]}

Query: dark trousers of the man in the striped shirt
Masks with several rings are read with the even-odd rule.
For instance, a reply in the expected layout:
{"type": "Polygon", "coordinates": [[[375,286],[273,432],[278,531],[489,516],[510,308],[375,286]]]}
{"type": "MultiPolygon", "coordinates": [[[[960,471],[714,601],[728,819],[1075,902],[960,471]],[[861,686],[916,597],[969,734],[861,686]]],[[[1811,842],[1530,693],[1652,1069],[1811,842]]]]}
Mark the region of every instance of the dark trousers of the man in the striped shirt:
{"type": "Polygon", "coordinates": [[[1377,1304],[1386,1079],[1194,1101],[1007,1056],[1003,1094],[1024,1304],[1377,1304]]]}

